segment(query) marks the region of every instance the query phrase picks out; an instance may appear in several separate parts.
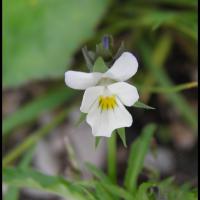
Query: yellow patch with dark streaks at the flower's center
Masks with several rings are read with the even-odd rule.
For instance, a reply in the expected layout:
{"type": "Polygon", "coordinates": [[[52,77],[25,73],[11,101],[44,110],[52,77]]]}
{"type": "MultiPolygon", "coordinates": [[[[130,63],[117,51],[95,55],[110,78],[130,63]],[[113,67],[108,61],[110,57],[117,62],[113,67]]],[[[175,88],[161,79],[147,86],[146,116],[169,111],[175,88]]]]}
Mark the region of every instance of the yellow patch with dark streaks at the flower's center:
{"type": "Polygon", "coordinates": [[[104,110],[111,110],[115,109],[117,106],[116,98],[115,96],[100,96],[99,97],[99,108],[104,111],[104,110]]]}

